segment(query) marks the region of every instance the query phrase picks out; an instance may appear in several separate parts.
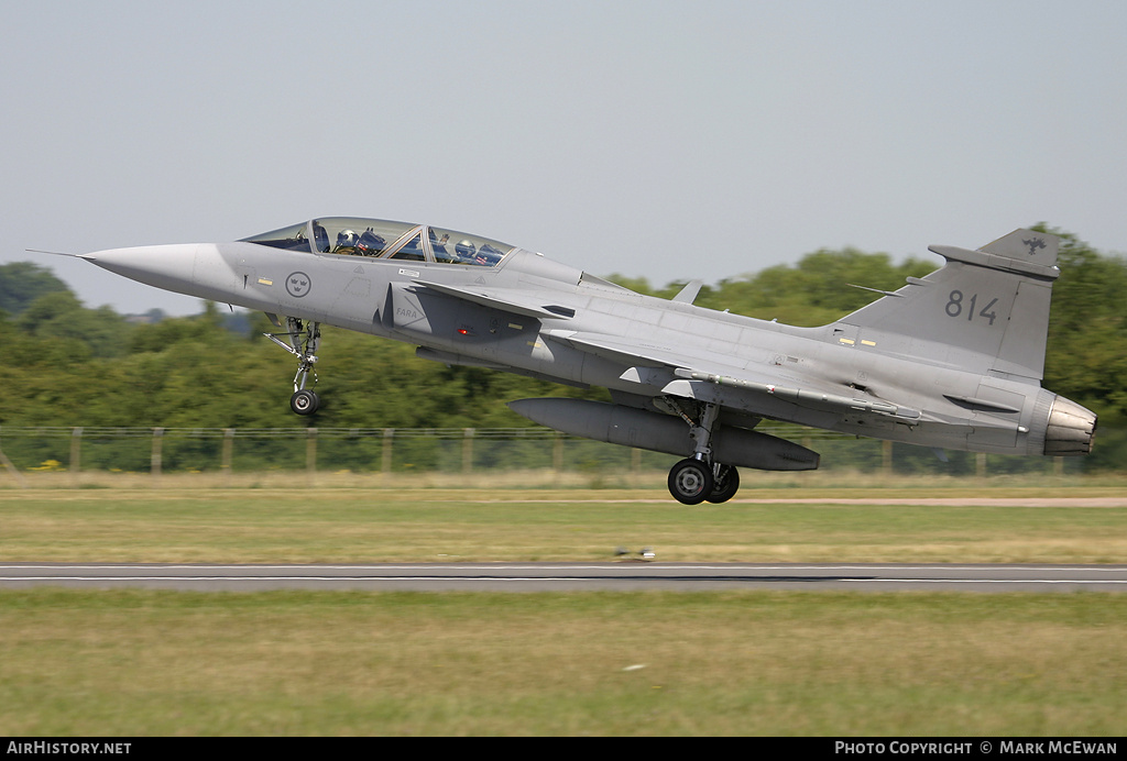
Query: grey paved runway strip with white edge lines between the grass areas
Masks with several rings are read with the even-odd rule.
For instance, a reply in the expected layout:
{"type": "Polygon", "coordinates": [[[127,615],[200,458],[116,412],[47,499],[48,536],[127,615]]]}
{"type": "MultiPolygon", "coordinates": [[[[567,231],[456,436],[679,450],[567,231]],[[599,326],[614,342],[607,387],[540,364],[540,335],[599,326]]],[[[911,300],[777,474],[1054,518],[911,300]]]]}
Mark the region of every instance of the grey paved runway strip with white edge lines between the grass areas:
{"type": "Polygon", "coordinates": [[[1127,592],[1127,565],[408,563],[357,565],[0,564],[0,589],[369,591],[852,590],[1127,592]]]}

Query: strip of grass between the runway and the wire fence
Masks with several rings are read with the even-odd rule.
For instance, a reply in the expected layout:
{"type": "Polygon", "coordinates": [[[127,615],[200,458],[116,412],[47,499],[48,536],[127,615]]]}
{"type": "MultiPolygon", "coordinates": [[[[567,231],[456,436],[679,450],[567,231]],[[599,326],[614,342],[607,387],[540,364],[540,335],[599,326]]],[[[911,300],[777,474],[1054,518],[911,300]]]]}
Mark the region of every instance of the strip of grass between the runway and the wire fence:
{"type": "Polygon", "coordinates": [[[0,559],[589,561],[647,546],[660,561],[1127,563],[1127,508],[1041,507],[1122,496],[1127,484],[746,492],[815,502],[686,508],[664,489],[6,490],[0,559]],[[966,504],[876,503],[905,498],[966,504]]]}

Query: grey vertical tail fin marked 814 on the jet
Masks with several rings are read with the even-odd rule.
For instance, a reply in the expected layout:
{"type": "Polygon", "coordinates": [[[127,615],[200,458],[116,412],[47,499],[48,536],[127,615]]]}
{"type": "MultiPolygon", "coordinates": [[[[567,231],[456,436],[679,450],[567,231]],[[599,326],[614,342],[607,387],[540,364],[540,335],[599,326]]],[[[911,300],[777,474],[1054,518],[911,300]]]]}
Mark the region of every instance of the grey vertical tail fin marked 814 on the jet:
{"type": "Polygon", "coordinates": [[[889,353],[1040,380],[1059,243],[1015,230],[976,251],[930,247],[943,267],[840,324],[889,353]]]}

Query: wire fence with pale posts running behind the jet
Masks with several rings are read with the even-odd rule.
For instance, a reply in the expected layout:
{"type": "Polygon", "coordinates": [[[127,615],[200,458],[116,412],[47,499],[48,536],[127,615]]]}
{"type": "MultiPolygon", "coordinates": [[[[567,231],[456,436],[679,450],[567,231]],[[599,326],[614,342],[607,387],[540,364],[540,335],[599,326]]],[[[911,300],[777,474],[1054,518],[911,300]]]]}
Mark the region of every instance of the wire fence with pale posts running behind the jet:
{"type": "MultiPolygon", "coordinates": [[[[790,424],[758,431],[822,455],[823,469],[896,474],[1065,474],[1083,458],[938,454],[790,424]],[[946,458],[941,459],[941,456],[946,458]]],[[[0,463],[30,472],[445,473],[665,471],[673,455],[629,449],[544,428],[94,428],[0,426],[0,463]]]]}

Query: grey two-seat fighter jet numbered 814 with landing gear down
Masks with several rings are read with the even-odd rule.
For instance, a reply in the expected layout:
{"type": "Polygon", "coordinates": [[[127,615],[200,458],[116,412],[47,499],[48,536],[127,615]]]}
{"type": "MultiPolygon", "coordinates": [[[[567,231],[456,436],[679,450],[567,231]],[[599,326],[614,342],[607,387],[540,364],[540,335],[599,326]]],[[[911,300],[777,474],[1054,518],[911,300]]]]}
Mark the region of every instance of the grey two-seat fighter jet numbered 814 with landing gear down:
{"type": "MultiPolygon", "coordinates": [[[[818,455],[755,430],[778,420],[930,448],[1082,455],[1095,415],[1041,388],[1059,240],[1018,230],[877,292],[822,328],[642,296],[540,253],[429,225],[320,217],[230,243],[115,249],[82,258],[181,294],[260,310],[307,385],[321,324],[418,346],[447,365],[603,386],[612,403],[509,402],[574,436],[680,455],[668,486],[724,502],[737,467],[805,471],[818,455]]],[[[316,376],[314,376],[316,378],[316,376]]]]}

